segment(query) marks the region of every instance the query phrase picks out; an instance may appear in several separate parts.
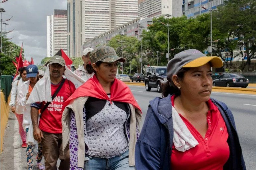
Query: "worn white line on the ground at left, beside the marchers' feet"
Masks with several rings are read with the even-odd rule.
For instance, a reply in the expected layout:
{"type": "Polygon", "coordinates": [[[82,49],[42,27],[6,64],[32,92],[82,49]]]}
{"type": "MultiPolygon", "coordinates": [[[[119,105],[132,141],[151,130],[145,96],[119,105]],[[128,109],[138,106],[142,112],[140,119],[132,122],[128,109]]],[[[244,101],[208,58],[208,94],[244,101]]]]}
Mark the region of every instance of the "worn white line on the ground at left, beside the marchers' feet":
{"type": "Polygon", "coordinates": [[[21,168],[21,146],[20,146],[20,134],[19,134],[19,122],[15,116],[14,119],[14,137],[13,137],[13,146],[14,146],[14,169],[19,170],[21,168]]]}

